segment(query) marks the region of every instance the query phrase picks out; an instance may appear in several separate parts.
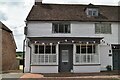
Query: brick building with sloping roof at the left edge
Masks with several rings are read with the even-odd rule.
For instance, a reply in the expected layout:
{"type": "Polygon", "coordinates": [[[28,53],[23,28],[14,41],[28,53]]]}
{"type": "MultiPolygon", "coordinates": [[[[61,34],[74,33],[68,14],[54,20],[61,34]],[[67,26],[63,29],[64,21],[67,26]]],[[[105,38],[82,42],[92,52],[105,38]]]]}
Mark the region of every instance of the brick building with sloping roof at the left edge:
{"type": "Polygon", "coordinates": [[[0,62],[2,71],[18,69],[16,48],[12,31],[0,22],[0,62]]]}

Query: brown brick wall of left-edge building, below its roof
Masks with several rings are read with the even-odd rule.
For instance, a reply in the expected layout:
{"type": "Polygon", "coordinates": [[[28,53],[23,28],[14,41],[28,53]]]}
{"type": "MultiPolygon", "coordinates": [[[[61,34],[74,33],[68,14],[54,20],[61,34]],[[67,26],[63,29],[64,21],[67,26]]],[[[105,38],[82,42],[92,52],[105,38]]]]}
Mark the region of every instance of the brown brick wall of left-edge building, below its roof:
{"type": "Polygon", "coordinates": [[[16,62],[16,45],[13,35],[6,30],[2,30],[2,70],[17,69],[16,62]]]}

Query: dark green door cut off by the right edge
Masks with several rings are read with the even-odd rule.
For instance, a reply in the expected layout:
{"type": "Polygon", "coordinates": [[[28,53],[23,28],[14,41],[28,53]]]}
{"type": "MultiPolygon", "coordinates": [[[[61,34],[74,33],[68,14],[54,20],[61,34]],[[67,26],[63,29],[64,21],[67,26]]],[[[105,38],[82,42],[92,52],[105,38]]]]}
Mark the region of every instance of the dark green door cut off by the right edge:
{"type": "Polygon", "coordinates": [[[120,50],[113,50],[113,70],[120,70],[120,50]]]}

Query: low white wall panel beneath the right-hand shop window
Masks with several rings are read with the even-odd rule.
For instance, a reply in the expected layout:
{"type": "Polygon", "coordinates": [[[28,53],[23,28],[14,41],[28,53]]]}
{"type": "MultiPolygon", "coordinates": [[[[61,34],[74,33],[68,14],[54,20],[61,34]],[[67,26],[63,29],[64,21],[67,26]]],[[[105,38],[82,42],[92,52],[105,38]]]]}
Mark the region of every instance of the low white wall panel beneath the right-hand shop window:
{"type": "Polygon", "coordinates": [[[73,66],[74,73],[100,72],[100,66],[73,66]]]}

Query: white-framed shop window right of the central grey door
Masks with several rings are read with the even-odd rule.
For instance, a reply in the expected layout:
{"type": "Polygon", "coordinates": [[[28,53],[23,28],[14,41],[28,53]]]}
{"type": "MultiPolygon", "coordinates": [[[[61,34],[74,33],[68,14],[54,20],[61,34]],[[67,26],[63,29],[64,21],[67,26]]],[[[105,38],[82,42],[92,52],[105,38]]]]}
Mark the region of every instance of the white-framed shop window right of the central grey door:
{"type": "Polygon", "coordinates": [[[76,63],[99,63],[99,55],[96,52],[95,44],[76,45],[76,63]]]}

